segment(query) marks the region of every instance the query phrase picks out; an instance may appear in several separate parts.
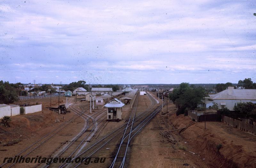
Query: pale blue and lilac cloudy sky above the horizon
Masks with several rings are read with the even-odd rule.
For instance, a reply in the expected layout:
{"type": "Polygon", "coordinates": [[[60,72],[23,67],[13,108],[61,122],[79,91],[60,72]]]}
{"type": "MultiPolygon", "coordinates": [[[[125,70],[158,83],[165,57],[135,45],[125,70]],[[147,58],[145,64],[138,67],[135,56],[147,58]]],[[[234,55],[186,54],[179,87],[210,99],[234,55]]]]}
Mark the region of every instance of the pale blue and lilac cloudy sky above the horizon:
{"type": "Polygon", "coordinates": [[[0,80],[256,82],[256,2],[0,2],[0,80]]]}

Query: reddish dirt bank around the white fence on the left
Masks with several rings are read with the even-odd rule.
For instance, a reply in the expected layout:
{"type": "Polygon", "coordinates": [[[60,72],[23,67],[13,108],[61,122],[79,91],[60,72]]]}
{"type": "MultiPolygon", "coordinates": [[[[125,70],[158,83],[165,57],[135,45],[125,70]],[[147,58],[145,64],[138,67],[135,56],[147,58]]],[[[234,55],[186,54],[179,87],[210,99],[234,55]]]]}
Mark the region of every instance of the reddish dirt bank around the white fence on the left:
{"type": "MultiPolygon", "coordinates": [[[[64,99],[66,98],[60,99],[61,104],[63,104],[64,99]]],[[[26,101],[33,102],[33,100],[26,101]]],[[[26,101],[17,102],[16,104],[26,103],[26,101]]],[[[42,112],[12,116],[11,122],[9,123],[11,127],[0,126],[0,142],[2,144],[34,136],[37,134],[37,131],[42,128],[51,127],[55,124],[57,118],[61,118],[60,115],[46,108],[50,106],[50,99],[49,101],[48,99],[36,99],[35,102],[42,104],[42,112]]],[[[52,98],[52,106],[58,106],[58,100],[56,98],[52,98]]]]}

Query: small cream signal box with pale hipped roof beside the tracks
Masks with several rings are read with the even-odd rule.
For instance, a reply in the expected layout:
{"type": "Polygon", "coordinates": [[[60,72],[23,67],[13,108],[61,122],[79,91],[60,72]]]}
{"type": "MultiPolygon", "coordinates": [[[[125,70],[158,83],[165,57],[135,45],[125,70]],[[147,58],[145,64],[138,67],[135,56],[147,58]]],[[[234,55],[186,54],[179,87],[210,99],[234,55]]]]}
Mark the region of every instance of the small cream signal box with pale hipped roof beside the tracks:
{"type": "Polygon", "coordinates": [[[118,99],[113,99],[109,103],[105,105],[105,107],[108,108],[108,121],[120,121],[122,120],[122,107],[124,106],[124,103],[122,103],[118,99]]]}

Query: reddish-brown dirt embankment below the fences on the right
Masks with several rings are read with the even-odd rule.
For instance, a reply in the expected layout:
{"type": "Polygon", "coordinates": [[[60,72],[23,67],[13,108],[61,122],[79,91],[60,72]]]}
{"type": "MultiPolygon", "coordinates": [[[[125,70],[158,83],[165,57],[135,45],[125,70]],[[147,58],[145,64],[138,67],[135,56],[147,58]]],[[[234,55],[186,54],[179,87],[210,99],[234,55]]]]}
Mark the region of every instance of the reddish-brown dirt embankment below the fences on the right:
{"type": "Polygon", "coordinates": [[[176,128],[189,126],[180,135],[210,167],[256,167],[256,137],[221,122],[194,122],[183,114],[170,117],[176,128]],[[221,144],[220,150],[217,145],[221,144]]]}

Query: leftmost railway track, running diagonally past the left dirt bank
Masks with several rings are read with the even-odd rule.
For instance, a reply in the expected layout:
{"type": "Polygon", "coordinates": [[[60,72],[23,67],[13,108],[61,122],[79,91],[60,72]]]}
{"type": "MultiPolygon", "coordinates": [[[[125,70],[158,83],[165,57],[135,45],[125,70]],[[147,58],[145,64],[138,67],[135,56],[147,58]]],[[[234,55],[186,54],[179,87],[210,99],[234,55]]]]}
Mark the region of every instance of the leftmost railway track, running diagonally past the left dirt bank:
{"type": "MultiPolygon", "coordinates": [[[[71,108],[73,105],[70,105],[71,108]]],[[[85,105],[83,108],[85,108],[88,105],[85,105]]],[[[60,132],[62,130],[62,128],[65,128],[67,125],[69,125],[70,123],[72,123],[72,121],[76,120],[78,117],[81,117],[83,115],[83,113],[76,113],[76,115],[74,115],[73,117],[71,117],[68,121],[63,122],[60,126],[58,126],[57,128],[55,128],[54,130],[52,130],[51,132],[49,132],[48,134],[44,135],[42,138],[40,138],[39,140],[37,140],[36,142],[32,143],[30,146],[28,146],[27,148],[23,149],[20,151],[20,153],[16,154],[15,156],[19,156],[22,155],[23,157],[27,157],[29,154],[31,154],[32,152],[34,152],[36,149],[38,149],[39,147],[41,147],[45,142],[47,142],[48,140],[50,140],[51,138],[54,137],[54,135],[56,135],[58,132],[60,132]]],[[[13,157],[14,158],[14,157],[13,157]]],[[[14,166],[16,163],[7,163],[5,162],[4,164],[0,165],[1,167],[12,167],[14,166]]]]}

